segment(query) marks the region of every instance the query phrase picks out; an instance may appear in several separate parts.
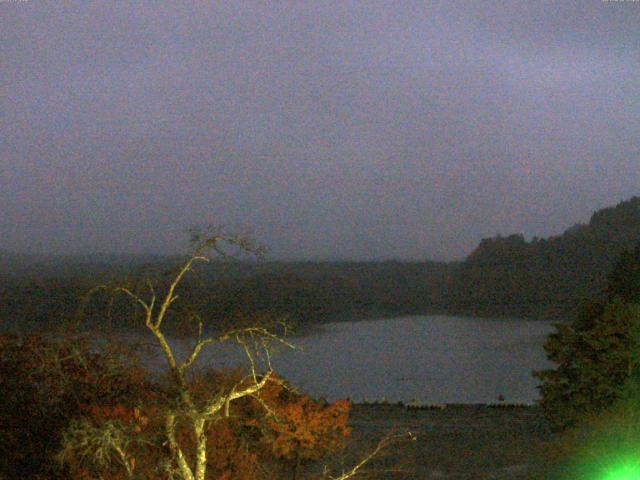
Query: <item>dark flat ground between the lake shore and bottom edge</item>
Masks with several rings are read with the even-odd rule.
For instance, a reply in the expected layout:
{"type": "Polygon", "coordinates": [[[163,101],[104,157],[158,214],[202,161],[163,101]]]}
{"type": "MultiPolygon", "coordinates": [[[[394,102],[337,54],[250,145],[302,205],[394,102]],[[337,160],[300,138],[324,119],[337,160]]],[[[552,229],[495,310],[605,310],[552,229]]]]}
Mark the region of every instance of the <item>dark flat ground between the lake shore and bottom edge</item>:
{"type": "Polygon", "coordinates": [[[397,480],[533,480],[536,454],[549,438],[538,407],[354,405],[351,426],[343,465],[389,433],[416,436],[387,449],[369,469],[372,478],[397,480]]]}

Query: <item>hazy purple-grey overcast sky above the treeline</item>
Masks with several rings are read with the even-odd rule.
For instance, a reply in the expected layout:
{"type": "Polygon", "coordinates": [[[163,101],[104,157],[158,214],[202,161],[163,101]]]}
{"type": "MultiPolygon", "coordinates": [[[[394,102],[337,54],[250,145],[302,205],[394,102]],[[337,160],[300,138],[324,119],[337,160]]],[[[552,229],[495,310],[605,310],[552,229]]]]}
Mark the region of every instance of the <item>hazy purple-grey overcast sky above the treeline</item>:
{"type": "Polygon", "coordinates": [[[0,0],[0,249],[458,259],[640,194],[640,2],[0,0]]]}

